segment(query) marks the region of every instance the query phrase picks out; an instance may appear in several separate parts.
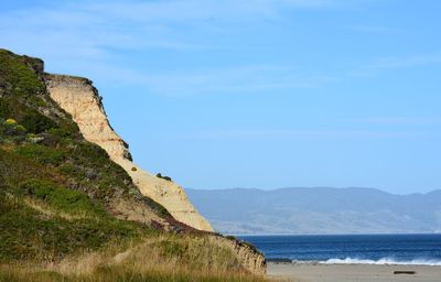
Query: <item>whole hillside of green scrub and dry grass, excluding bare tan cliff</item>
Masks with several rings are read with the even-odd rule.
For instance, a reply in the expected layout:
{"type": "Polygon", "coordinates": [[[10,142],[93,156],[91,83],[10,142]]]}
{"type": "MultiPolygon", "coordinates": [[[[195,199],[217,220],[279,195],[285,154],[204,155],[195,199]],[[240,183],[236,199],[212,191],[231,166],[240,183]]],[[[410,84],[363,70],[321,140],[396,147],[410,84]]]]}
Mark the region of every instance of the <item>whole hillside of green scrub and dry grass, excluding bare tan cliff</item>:
{"type": "Polygon", "coordinates": [[[87,141],[43,66],[0,50],[0,281],[260,280],[252,247],[176,220],[87,141]]]}

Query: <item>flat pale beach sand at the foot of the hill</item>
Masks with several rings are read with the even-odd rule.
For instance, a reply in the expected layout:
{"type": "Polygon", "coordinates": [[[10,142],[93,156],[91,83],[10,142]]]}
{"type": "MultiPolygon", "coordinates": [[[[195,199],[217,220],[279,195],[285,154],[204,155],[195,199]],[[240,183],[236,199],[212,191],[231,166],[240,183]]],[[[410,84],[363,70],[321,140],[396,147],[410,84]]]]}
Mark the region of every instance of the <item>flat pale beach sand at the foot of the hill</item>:
{"type": "Polygon", "coordinates": [[[295,264],[269,262],[270,278],[295,282],[441,282],[441,267],[373,264],[295,264]],[[416,271],[416,274],[394,274],[416,271]]]}

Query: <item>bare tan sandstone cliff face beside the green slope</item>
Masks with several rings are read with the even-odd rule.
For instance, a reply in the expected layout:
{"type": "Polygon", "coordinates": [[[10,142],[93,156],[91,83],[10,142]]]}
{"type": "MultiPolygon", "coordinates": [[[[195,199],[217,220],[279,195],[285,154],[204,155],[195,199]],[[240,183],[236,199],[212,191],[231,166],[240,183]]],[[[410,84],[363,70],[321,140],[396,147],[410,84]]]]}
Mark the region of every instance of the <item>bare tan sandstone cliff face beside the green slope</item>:
{"type": "Polygon", "coordinates": [[[52,99],[72,115],[84,138],[106,150],[111,160],[132,177],[143,195],[165,207],[176,220],[198,230],[213,231],[209,223],[196,212],[181,186],[157,177],[132,162],[127,143],[110,127],[101,98],[90,80],[46,75],[45,82],[52,99]]]}

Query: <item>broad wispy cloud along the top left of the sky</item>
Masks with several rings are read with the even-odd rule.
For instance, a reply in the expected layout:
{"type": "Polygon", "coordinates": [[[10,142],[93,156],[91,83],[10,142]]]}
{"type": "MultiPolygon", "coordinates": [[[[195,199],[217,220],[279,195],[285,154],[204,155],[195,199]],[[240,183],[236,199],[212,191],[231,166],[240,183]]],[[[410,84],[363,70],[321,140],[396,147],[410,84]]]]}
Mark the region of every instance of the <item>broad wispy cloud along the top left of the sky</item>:
{"type": "Polygon", "coordinates": [[[0,13],[1,43],[56,55],[106,55],[106,48],[176,48],[209,46],[200,37],[182,35],[219,31],[225,23],[236,29],[262,19],[278,19],[286,8],[318,9],[338,0],[165,0],[165,1],[62,1],[45,8],[0,13]]]}

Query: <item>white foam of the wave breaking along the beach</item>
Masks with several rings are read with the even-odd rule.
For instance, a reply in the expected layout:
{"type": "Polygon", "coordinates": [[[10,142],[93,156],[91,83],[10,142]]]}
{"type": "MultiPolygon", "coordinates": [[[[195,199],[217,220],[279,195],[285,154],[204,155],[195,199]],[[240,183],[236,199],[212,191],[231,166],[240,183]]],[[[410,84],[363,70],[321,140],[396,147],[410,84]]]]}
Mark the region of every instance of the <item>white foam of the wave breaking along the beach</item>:
{"type": "Polygon", "coordinates": [[[377,265],[385,265],[385,264],[394,264],[394,265],[430,265],[430,267],[441,267],[441,260],[424,260],[424,259],[417,259],[417,260],[409,260],[409,261],[399,261],[391,258],[384,258],[379,260],[364,260],[364,259],[330,259],[326,261],[319,261],[318,263],[321,264],[377,264],[377,265]]]}

